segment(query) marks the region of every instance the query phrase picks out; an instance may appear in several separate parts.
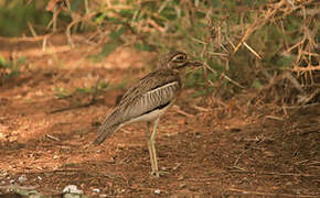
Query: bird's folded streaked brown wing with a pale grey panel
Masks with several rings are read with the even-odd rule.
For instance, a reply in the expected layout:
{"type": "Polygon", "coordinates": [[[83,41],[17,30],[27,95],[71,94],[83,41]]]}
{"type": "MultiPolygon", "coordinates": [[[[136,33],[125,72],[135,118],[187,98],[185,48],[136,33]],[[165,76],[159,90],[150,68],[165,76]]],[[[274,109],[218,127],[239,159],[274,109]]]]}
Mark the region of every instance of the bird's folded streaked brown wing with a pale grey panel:
{"type": "Polygon", "coordinates": [[[150,73],[128,89],[106,122],[124,123],[154,109],[161,109],[172,102],[180,87],[180,77],[174,73],[150,73]]]}

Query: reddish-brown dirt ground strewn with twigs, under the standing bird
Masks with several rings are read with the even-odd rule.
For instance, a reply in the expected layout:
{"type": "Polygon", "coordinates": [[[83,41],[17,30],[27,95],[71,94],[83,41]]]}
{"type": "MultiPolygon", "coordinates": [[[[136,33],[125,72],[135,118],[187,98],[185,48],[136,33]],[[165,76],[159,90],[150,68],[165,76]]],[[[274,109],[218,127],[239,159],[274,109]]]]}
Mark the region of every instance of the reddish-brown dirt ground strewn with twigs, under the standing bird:
{"type": "Polygon", "coordinates": [[[143,65],[154,54],[122,47],[93,62],[98,46],[70,48],[64,36],[51,36],[45,51],[42,40],[0,44],[2,56],[29,59],[0,87],[2,196],[21,188],[58,197],[67,185],[105,197],[320,196],[317,107],[288,109],[286,117],[254,108],[244,114],[244,98],[225,101],[231,112],[220,117],[185,90],[160,121],[156,146],[167,174],[152,178],[145,123],[118,130],[99,146],[92,141],[122,87],[150,70],[143,65]],[[92,96],[76,88],[95,86],[98,76],[109,88],[77,107],[92,96]]]}

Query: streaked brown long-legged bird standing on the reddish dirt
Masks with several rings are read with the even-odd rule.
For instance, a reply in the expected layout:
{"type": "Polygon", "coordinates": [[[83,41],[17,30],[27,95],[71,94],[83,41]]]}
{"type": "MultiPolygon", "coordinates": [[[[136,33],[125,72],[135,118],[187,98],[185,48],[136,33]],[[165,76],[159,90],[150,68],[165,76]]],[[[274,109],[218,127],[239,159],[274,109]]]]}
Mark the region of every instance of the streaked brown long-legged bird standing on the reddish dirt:
{"type": "Polygon", "coordinates": [[[147,144],[151,162],[151,176],[159,177],[156,134],[160,117],[175,101],[182,90],[181,70],[188,66],[201,66],[189,61],[186,54],[173,51],[163,55],[154,72],[149,73],[129,88],[115,109],[107,114],[93,144],[102,144],[118,129],[134,122],[147,122],[147,144]],[[152,132],[150,132],[153,123],[152,132]]]}

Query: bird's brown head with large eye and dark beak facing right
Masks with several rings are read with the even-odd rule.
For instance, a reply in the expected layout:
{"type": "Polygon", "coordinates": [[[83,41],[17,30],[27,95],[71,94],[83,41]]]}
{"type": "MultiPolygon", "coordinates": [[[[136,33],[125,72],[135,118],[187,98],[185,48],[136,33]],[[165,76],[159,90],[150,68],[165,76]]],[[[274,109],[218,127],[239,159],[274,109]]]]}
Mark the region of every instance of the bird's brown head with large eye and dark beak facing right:
{"type": "Polygon", "coordinates": [[[158,68],[181,69],[186,66],[201,66],[199,62],[191,62],[186,54],[180,51],[174,51],[166,54],[160,58],[158,68]]]}

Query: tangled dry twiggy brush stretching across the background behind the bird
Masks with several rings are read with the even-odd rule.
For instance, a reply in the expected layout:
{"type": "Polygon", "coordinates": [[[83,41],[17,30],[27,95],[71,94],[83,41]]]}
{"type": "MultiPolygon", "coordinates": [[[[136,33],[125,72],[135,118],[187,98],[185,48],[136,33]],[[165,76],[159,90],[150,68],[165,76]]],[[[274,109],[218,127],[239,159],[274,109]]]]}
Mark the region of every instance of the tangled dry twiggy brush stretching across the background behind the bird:
{"type": "Polygon", "coordinates": [[[119,35],[122,45],[142,42],[159,51],[182,48],[201,58],[205,68],[200,81],[202,89],[213,90],[206,95],[211,96],[207,105],[212,108],[226,108],[223,101],[250,91],[255,92],[249,99],[254,106],[287,108],[319,102],[320,7],[316,0],[233,2],[235,7],[228,1],[214,7],[201,1],[85,0],[76,10],[72,3],[52,0],[46,4],[53,18],[47,24],[52,31],[45,36],[39,36],[29,24],[32,40],[41,40],[43,51],[55,31],[64,31],[72,47],[77,42],[102,46],[111,40],[109,33],[124,28],[124,36],[119,35]],[[171,14],[175,19],[166,18],[168,9],[174,10],[171,14]],[[63,12],[71,16],[66,26],[60,25],[63,12]],[[104,14],[113,20],[102,18],[97,22],[104,14]],[[77,31],[86,28],[90,33],[78,35],[77,31]],[[289,62],[275,66],[282,59],[289,62]]]}

